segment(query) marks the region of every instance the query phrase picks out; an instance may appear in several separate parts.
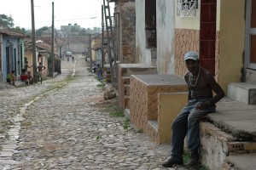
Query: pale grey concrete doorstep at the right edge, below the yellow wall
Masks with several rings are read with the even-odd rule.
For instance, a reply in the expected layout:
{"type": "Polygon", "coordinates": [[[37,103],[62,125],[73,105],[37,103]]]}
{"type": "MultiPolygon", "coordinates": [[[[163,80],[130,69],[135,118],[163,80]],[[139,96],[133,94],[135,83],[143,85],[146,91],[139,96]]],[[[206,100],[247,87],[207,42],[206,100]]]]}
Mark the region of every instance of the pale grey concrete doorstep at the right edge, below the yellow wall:
{"type": "Polygon", "coordinates": [[[231,82],[228,85],[227,97],[247,105],[256,105],[256,83],[231,82]]]}

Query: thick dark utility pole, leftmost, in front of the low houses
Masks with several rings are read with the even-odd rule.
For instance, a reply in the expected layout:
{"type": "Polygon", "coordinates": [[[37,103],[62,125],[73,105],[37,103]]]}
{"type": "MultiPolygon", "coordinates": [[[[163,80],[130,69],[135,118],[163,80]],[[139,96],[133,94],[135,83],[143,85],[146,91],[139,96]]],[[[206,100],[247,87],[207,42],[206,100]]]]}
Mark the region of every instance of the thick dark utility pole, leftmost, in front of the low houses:
{"type": "Polygon", "coordinates": [[[37,77],[37,54],[36,54],[36,31],[35,31],[35,18],[34,18],[34,2],[31,0],[31,18],[32,18],[32,59],[33,59],[33,78],[34,82],[38,82],[37,77]]]}

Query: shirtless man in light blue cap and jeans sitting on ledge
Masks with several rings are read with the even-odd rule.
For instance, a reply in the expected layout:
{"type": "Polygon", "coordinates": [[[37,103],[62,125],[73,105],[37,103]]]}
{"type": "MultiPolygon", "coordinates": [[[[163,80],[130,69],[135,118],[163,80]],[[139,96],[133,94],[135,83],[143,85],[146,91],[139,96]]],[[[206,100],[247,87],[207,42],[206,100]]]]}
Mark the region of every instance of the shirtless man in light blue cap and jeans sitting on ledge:
{"type": "Polygon", "coordinates": [[[188,135],[190,159],[186,165],[194,166],[199,161],[199,119],[215,111],[216,103],[224,97],[224,90],[211,73],[200,66],[198,54],[188,52],[184,55],[188,72],[184,78],[189,88],[189,103],[172,122],[171,158],[162,164],[173,167],[183,164],[184,138],[188,135]],[[213,97],[212,91],[215,92],[213,97]]]}

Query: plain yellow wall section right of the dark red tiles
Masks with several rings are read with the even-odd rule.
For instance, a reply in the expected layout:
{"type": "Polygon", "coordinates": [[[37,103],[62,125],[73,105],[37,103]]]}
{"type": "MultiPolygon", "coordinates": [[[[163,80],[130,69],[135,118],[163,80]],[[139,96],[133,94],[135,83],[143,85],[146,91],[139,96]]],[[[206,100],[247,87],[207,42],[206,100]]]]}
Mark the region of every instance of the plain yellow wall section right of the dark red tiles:
{"type": "Polygon", "coordinates": [[[227,85],[239,82],[241,77],[245,43],[245,0],[218,0],[218,3],[218,82],[226,92],[227,85]]]}

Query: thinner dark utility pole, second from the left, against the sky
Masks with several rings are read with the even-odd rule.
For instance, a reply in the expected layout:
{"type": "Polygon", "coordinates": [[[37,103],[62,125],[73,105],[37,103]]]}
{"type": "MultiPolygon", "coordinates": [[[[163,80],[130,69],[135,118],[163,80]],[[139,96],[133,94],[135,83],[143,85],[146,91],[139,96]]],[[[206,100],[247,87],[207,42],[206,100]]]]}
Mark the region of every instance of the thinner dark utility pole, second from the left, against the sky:
{"type": "Polygon", "coordinates": [[[54,3],[52,2],[52,24],[51,24],[51,71],[50,76],[54,77],[55,72],[55,13],[54,3]]]}

